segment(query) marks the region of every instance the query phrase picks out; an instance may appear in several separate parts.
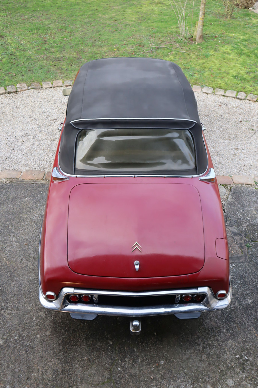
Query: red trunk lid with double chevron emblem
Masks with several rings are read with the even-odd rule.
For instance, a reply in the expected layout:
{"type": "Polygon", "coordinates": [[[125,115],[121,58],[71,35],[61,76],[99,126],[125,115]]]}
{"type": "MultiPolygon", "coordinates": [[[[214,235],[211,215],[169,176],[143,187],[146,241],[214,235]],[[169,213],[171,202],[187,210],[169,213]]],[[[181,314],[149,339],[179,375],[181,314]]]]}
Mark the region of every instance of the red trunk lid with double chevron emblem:
{"type": "Polygon", "coordinates": [[[204,239],[197,189],[173,183],[73,187],[68,264],[78,274],[107,277],[199,271],[204,264],[204,239]]]}

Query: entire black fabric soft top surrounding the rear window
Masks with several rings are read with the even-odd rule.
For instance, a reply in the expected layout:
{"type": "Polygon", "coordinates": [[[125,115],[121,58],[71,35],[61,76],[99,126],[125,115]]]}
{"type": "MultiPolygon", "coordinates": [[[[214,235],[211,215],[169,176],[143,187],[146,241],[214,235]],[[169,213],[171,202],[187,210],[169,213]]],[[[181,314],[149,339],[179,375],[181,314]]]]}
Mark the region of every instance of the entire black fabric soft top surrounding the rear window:
{"type": "Polygon", "coordinates": [[[139,127],[189,129],[195,140],[195,174],[205,171],[207,155],[195,95],[178,65],[152,58],[106,58],[85,63],[68,99],[59,154],[61,169],[75,173],[79,130],[139,127]]]}

